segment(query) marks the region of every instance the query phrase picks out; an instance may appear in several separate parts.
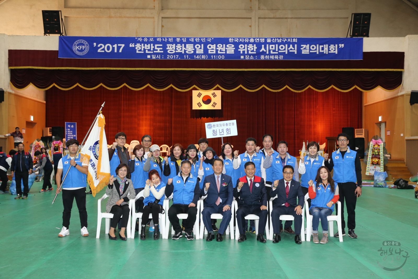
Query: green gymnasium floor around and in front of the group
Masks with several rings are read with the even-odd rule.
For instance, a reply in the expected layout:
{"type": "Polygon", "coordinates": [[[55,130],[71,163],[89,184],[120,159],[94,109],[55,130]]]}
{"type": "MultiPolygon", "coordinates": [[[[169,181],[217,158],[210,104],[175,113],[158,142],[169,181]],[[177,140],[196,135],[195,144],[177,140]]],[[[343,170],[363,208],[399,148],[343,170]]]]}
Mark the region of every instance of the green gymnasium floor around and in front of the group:
{"type": "MultiPolygon", "coordinates": [[[[325,245],[303,242],[282,233],[282,241],[262,244],[247,233],[247,241],[178,241],[151,237],[140,241],[110,241],[96,235],[97,199],[87,196],[89,237],[80,235],[76,203],[70,235],[58,238],[62,227],[61,196],[54,205],[53,192],[39,193],[35,183],[28,200],[0,195],[0,277],[1,278],[394,278],[418,277],[418,200],[413,190],[363,187],[357,202],[358,239],[331,238],[325,245]],[[382,246],[383,241],[399,246],[382,246]],[[393,248],[393,256],[380,256],[380,248],[393,248]],[[399,252],[399,251],[398,251],[399,252]],[[379,267],[377,262],[387,268],[379,267]],[[397,259],[398,256],[398,259],[397,259]],[[399,259],[400,257],[400,259],[399,259]]],[[[104,204],[102,205],[104,208],[104,204]]],[[[321,226],[320,226],[321,227],[321,226]]],[[[336,230],[336,223],[334,223],[336,230]]],[[[320,233],[321,235],[321,233],[320,233]]],[[[320,236],[321,238],[321,236],[320,236]]],[[[390,251],[387,251],[387,255],[390,251]]]]}

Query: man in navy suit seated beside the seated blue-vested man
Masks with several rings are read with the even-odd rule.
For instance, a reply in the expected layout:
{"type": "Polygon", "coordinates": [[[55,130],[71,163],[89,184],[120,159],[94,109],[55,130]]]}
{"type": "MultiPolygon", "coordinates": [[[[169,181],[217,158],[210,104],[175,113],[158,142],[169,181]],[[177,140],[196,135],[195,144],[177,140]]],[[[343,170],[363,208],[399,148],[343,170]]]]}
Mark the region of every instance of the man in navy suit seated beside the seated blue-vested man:
{"type": "Polygon", "coordinates": [[[214,159],[212,169],[213,174],[205,177],[201,189],[201,195],[206,196],[204,200],[204,209],[202,211],[203,223],[208,230],[208,236],[206,241],[212,241],[214,239],[214,232],[212,230],[211,214],[222,214],[221,225],[218,229],[216,241],[222,241],[222,235],[228,227],[231,221],[232,212],[232,198],[234,195],[234,188],[232,187],[232,179],[229,175],[222,174],[224,169],[224,161],[221,159],[214,159]],[[210,230],[210,231],[209,231],[210,230]]]}

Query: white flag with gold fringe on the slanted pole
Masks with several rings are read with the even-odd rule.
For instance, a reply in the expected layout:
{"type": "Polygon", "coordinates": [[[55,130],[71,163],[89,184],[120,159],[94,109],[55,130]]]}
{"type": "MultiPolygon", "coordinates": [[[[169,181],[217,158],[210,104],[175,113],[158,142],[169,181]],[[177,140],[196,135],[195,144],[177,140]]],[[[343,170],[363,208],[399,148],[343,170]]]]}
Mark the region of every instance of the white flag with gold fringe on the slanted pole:
{"type": "Polygon", "coordinates": [[[109,184],[110,179],[110,164],[104,124],[104,116],[100,113],[80,152],[82,162],[89,164],[87,182],[90,189],[92,189],[93,197],[109,184]]]}

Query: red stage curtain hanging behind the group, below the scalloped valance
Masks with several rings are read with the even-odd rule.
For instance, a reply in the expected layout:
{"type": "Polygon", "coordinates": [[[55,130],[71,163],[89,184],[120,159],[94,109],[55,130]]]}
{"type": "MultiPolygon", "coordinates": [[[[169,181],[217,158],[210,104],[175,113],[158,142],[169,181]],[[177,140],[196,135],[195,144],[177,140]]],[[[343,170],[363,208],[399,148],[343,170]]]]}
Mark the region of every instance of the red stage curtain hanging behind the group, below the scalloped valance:
{"type": "MultiPolygon", "coordinates": [[[[238,136],[225,137],[224,142],[231,142],[240,153],[245,151],[247,137],[256,138],[257,145],[263,146],[262,136],[270,133],[275,144],[287,141],[293,156],[298,156],[303,141],[324,143],[325,137],[336,136],[342,127],[362,125],[362,92],[357,89],[350,92],[308,89],[299,93],[288,89],[222,91],[222,110],[192,110],[191,100],[191,90],[179,92],[173,88],[156,91],[146,87],[135,91],[127,87],[118,90],[75,87],[64,91],[52,87],[46,91],[46,125],[77,122],[77,139],[81,141],[100,105],[106,101],[103,115],[108,143],[114,141],[117,132],[123,131],[127,143],[150,134],[153,143],[160,146],[181,143],[186,148],[206,137],[204,123],[236,119],[238,136]]],[[[209,146],[219,154],[221,139],[209,139],[209,146]]]]}

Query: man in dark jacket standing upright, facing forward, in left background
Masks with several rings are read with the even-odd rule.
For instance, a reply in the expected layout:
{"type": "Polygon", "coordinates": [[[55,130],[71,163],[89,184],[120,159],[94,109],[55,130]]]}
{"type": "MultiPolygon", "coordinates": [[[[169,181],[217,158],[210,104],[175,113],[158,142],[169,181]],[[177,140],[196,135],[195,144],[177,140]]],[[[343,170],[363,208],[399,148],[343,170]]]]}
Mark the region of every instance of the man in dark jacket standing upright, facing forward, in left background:
{"type": "Polygon", "coordinates": [[[12,165],[10,170],[12,171],[12,177],[15,176],[16,192],[18,194],[15,200],[27,199],[29,193],[28,178],[29,174],[32,174],[33,160],[31,154],[25,152],[25,145],[19,143],[18,153],[13,156],[12,165]],[[22,180],[23,180],[23,196],[22,196],[22,180]]]}

